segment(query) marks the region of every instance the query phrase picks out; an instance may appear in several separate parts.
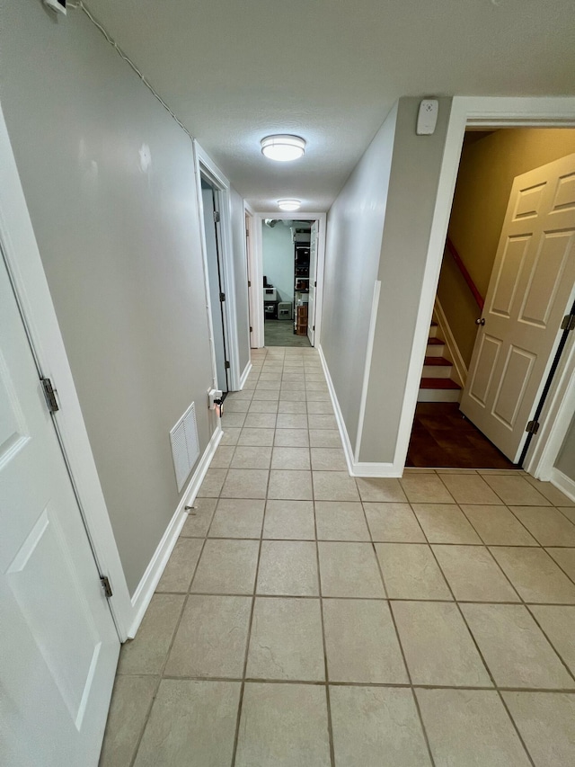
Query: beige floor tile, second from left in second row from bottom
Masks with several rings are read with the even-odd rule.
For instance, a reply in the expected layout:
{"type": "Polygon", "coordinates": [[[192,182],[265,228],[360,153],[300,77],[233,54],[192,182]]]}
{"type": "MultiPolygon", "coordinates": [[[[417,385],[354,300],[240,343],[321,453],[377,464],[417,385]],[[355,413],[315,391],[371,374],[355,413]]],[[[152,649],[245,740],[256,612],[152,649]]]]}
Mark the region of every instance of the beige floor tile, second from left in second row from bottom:
{"type": "Polygon", "coordinates": [[[251,612],[251,597],[190,594],[165,673],[241,679],[251,612]]]}

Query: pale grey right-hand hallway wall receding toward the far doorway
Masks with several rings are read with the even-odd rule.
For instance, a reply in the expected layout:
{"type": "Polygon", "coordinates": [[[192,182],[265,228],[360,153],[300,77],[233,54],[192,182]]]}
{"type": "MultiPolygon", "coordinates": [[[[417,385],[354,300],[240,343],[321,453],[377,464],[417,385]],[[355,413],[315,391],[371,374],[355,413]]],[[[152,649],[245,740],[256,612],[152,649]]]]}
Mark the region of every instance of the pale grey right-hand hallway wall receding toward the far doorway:
{"type": "Polygon", "coordinates": [[[396,119],[395,106],[327,218],[321,343],[352,446],[358,434],[360,391],[396,119]]]}

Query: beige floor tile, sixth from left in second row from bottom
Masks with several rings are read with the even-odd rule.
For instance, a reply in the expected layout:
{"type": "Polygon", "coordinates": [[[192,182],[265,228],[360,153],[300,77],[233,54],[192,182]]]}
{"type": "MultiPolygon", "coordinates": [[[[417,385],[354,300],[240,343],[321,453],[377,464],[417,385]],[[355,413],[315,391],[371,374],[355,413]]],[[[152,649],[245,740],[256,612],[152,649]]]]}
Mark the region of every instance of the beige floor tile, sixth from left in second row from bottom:
{"type": "Polygon", "coordinates": [[[500,687],[575,687],[526,607],[462,604],[461,609],[500,687]]]}

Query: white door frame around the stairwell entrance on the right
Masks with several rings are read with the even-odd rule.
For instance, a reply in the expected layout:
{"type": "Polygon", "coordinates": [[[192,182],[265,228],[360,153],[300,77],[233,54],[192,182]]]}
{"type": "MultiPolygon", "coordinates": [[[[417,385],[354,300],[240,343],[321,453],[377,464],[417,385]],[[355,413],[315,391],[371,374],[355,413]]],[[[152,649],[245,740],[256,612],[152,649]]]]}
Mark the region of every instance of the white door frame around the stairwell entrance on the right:
{"type": "MultiPolygon", "coordinates": [[[[575,98],[483,97],[456,96],[451,106],[447,127],[443,164],[439,174],[438,196],[429,235],[428,255],[420,295],[420,307],[411,349],[403,397],[399,434],[395,445],[394,470],[399,475],[405,466],[411,426],[415,415],[417,394],[433,304],[437,292],[439,270],[451,215],[456,177],[459,169],[465,128],[574,128],[575,98]]],[[[573,343],[563,356],[555,374],[553,388],[545,406],[542,425],[527,452],[525,468],[534,477],[549,478],[557,453],[561,448],[575,405],[575,352],[573,343]],[[561,417],[557,417],[557,416],[561,417]],[[563,423],[566,421],[566,423],[563,423]]]]}

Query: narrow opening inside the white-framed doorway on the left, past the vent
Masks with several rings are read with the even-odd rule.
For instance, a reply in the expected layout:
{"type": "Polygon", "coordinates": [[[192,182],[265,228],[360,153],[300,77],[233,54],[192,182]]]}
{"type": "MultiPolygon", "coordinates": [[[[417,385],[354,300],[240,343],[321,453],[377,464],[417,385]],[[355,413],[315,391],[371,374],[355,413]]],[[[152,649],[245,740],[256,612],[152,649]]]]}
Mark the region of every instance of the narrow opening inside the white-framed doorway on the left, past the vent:
{"type": "Polygon", "coordinates": [[[203,174],[201,175],[201,201],[206,238],[209,306],[216,357],[217,388],[221,389],[224,397],[226,397],[230,390],[230,363],[226,335],[226,281],[220,231],[220,190],[203,174]]]}

